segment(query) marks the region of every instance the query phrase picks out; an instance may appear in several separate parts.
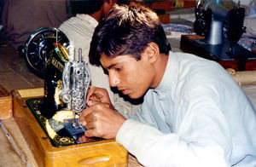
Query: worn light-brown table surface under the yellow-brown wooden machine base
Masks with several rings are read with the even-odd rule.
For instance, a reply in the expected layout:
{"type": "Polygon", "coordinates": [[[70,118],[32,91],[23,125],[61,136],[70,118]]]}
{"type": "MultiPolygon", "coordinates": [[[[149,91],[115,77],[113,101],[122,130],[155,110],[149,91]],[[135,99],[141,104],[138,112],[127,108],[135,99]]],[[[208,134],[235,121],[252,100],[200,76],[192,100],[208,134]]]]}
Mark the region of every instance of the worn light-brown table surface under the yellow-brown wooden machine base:
{"type": "MultiPolygon", "coordinates": [[[[5,131],[0,128],[0,166],[38,167],[15,119],[4,119],[2,123],[2,129],[4,128],[5,131]]],[[[137,158],[129,154],[127,167],[142,167],[142,165],[137,162],[137,158]]]]}

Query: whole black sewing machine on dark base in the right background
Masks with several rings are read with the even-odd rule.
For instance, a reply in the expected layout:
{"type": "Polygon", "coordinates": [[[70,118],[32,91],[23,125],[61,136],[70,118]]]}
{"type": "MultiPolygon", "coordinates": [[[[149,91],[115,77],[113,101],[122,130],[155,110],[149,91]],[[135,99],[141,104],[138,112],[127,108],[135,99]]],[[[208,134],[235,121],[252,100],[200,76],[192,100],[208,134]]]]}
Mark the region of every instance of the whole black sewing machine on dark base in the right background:
{"type": "Polygon", "coordinates": [[[245,9],[239,4],[226,9],[215,0],[196,4],[194,31],[200,37],[182,37],[181,49],[211,60],[236,61],[236,70],[245,70],[248,60],[256,60],[256,55],[237,43],[246,27],[243,26],[245,9]],[[191,46],[185,46],[185,45],[191,46]]]}

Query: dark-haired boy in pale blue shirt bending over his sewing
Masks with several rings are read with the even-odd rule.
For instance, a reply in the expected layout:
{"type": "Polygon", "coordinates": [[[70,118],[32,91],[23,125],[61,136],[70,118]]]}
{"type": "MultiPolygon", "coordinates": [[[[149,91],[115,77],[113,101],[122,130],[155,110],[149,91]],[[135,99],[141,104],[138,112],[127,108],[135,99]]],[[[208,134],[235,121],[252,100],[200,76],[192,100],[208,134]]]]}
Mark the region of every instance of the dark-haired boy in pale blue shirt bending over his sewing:
{"type": "Polygon", "coordinates": [[[114,6],[96,27],[90,62],[144,101],[123,114],[91,87],[85,135],[116,139],[145,166],[256,166],[255,110],[239,85],[218,63],[170,49],[153,11],[114,6]]]}

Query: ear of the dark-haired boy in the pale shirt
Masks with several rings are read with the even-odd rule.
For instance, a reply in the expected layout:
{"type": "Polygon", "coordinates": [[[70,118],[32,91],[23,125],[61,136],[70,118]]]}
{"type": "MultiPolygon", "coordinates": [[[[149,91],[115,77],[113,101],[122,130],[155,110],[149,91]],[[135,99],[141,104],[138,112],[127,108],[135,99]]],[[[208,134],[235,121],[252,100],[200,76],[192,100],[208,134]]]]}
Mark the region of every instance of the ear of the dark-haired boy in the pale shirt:
{"type": "Polygon", "coordinates": [[[151,63],[154,63],[156,60],[158,60],[160,56],[160,50],[159,47],[156,43],[148,43],[148,46],[146,49],[143,51],[143,55],[146,55],[148,60],[151,63]]]}

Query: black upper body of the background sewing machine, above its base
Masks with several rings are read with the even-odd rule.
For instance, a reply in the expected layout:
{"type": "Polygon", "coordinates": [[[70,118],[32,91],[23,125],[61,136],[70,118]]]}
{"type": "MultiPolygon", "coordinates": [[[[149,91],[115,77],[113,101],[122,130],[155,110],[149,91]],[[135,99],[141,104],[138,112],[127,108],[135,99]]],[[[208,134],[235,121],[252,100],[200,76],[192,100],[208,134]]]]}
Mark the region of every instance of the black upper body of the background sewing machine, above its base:
{"type": "Polygon", "coordinates": [[[245,9],[239,6],[226,9],[215,0],[207,0],[196,5],[194,29],[198,35],[206,37],[208,44],[218,45],[224,43],[225,27],[227,39],[236,43],[245,32],[244,16],[245,9]]]}

